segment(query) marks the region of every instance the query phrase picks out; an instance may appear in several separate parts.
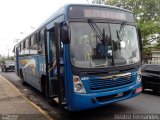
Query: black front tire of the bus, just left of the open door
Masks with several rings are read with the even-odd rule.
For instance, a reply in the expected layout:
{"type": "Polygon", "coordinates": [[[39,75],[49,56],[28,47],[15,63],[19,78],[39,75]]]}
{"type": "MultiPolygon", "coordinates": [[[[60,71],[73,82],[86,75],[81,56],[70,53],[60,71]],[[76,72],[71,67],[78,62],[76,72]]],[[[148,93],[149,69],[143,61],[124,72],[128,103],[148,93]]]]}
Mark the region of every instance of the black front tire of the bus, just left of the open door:
{"type": "Polygon", "coordinates": [[[47,84],[47,77],[45,75],[42,75],[41,77],[41,87],[42,87],[42,93],[45,97],[48,97],[48,84],[47,84]]]}

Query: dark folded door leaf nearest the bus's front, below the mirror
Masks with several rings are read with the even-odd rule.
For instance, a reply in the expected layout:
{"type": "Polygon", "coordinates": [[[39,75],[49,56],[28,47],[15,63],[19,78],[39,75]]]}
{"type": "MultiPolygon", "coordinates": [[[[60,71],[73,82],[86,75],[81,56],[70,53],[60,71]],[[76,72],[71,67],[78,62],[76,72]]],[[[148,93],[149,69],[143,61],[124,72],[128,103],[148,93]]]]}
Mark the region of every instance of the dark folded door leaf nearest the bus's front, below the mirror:
{"type": "Polygon", "coordinates": [[[65,73],[64,73],[64,48],[61,41],[61,23],[54,24],[54,39],[56,45],[56,78],[57,78],[57,94],[58,103],[60,106],[65,106],[66,95],[65,95],[65,73]]]}

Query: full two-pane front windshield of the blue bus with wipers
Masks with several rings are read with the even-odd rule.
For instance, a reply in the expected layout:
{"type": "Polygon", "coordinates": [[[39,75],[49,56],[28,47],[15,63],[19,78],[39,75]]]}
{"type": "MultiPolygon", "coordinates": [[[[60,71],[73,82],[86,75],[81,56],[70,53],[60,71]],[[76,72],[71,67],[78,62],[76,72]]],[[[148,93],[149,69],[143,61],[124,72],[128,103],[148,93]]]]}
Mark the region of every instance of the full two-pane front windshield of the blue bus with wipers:
{"type": "Polygon", "coordinates": [[[103,22],[72,22],[70,26],[70,56],[75,67],[104,68],[139,62],[135,26],[103,22]]]}

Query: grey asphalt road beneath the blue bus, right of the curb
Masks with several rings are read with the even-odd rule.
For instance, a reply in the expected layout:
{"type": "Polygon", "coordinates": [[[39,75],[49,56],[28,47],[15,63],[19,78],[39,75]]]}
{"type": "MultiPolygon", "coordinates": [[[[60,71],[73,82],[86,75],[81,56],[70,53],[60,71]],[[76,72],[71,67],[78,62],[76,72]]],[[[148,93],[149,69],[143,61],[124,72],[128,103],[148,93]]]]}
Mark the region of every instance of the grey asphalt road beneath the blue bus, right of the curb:
{"type": "MultiPolygon", "coordinates": [[[[114,103],[104,107],[81,111],[76,113],[68,112],[58,108],[53,102],[45,98],[40,92],[31,86],[22,86],[20,79],[14,72],[0,72],[0,75],[7,78],[23,94],[46,110],[54,119],[75,119],[75,120],[112,120],[112,119],[139,119],[139,114],[160,114],[160,94],[148,90],[140,96],[114,103]],[[137,116],[136,116],[137,115],[137,116]],[[136,117],[135,117],[136,116],[136,117]]],[[[157,118],[158,119],[158,118],[157,118]]]]}

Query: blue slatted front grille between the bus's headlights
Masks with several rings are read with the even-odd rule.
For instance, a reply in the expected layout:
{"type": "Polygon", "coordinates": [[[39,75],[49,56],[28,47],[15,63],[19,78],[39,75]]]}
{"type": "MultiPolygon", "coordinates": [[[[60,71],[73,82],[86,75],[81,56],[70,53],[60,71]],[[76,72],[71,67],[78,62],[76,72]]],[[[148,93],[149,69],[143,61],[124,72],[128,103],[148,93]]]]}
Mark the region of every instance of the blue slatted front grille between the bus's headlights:
{"type": "Polygon", "coordinates": [[[101,90],[101,89],[111,89],[115,87],[121,87],[124,85],[132,84],[134,80],[132,76],[118,77],[115,80],[113,78],[108,79],[91,79],[90,89],[91,90],[101,90]]]}

